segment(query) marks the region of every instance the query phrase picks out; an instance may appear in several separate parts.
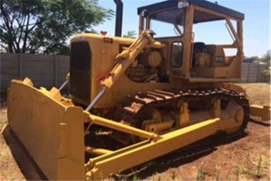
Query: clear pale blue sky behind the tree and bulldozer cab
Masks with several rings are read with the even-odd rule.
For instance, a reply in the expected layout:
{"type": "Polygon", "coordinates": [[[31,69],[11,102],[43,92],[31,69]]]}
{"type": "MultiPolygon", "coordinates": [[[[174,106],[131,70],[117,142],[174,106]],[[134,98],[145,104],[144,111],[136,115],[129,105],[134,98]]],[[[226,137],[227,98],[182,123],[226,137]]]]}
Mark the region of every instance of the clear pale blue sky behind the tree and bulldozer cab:
{"type": "MultiPolygon", "coordinates": [[[[149,5],[163,0],[123,0],[124,18],[123,34],[127,31],[138,32],[137,7],[149,5]]],[[[214,2],[215,0],[209,0],[214,2]]],[[[262,56],[270,49],[270,1],[269,0],[216,0],[219,5],[245,13],[244,52],[246,56],[262,56]]],[[[105,8],[115,10],[113,0],[100,0],[105,8]]],[[[95,30],[106,30],[108,35],[115,32],[115,18],[95,27],[95,30]]],[[[172,31],[172,30],[170,30],[172,31]]],[[[165,30],[165,32],[168,32],[165,30]]],[[[198,23],[194,26],[195,41],[207,44],[232,43],[224,21],[198,23]]],[[[232,51],[226,51],[233,54],[232,51]]]]}

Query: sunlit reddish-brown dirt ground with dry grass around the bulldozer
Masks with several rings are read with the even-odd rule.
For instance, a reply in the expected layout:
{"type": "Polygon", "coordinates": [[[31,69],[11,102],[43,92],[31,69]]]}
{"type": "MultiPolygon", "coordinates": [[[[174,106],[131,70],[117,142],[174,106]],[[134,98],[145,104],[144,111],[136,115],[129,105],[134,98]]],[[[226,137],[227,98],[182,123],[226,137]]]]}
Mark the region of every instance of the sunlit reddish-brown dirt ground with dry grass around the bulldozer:
{"type": "MultiPolygon", "coordinates": [[[[270,105],[270,84],[240,85],[247,90],[251,103],[270,105]]],[[[6,112],[2,104],[0,129],[7,123],[6,112]]],[[[126,179],[270,181],[270,121],[250,120],[244,133],[209,137],[192,148],[175,151],[133,169],[137,170],[141,172],[126,179]]],[[[2,136],[0,180],[25,180],[2,136]]]]}

